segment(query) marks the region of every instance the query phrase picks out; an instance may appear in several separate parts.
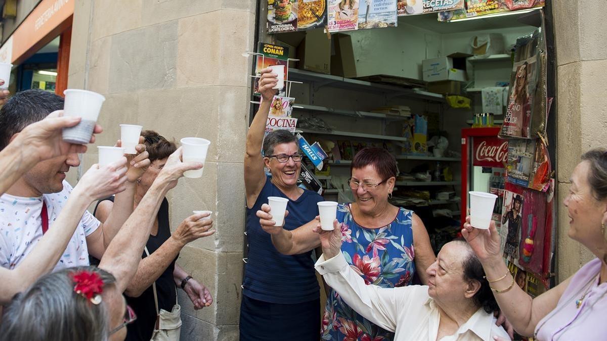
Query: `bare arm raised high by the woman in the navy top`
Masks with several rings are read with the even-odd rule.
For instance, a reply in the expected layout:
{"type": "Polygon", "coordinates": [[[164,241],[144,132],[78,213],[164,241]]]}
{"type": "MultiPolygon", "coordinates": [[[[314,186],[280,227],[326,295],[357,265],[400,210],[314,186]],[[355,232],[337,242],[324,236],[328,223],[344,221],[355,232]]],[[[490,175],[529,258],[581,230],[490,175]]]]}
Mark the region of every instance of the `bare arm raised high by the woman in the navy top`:
{"type": "Polygon", "coordinates": [[[263,173],[261,150],[266,121],[268,120],[268,113],[270,113],[270,104],[274,94],[276,94],[276,90],[272,89],[278,81],[276,76],[276,73],[271,73],[269,68],[262,70],[262,76],[259,79],[259,92],[262,95],[261,104],[259,104],[259,109],[253,118],[253,122],[251,122],[251,127],[246,133],[245,192],[248,208],[253,207],[266,181],[263,173]]]}

